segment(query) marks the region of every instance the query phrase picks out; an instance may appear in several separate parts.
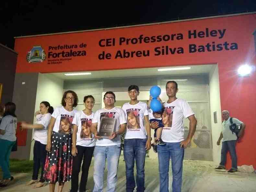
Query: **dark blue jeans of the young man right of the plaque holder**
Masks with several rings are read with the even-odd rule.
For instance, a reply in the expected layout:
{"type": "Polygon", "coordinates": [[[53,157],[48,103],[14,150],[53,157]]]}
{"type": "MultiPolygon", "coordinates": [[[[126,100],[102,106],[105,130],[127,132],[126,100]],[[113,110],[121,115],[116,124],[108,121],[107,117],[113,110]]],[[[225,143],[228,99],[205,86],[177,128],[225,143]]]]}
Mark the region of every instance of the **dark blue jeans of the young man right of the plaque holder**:
{"type": "Polygon", "coordinates": [[[134,181],[134,159],[136,163],[136,184],[137,192],[145,190],[145,156],[147,139],[125,139],[123,156],[126,168],[126,192],[133,192],[135,188],[134,181]]]}

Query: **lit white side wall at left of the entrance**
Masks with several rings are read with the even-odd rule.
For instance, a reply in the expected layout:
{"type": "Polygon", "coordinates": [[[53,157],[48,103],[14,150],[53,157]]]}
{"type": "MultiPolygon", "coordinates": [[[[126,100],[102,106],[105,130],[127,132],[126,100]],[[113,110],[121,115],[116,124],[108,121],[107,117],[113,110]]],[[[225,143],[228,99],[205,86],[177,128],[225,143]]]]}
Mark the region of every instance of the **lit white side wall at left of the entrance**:
{"type": "MultiPolygon", "coordinates": [[[[61,105],[64,81],[51,74],[39,73],[35,112],[39,110],[42,101],[48,101],[55,108],[61,105]]],[[[36,119],[34,118],[34,123],[36,119]]],[[[33,136],[32,136],[33,137],[33,136]]],[[[34,141],[31,143],[30,160],[33,159],[34,141]]]]}

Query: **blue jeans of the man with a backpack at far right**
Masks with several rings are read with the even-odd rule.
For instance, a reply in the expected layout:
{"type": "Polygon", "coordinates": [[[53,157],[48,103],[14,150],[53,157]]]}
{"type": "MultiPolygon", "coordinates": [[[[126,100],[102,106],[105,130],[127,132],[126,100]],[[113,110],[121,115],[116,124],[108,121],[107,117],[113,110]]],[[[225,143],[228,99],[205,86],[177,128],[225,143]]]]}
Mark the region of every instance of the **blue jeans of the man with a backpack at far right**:
{"type": "Polygon", "coordinates": [[[236,143],[236,140],[222,142],[220,166],[225,167],[227,161],[227,151],[229,151],[232,161],[232,169],[237,170],[236,143]]]}

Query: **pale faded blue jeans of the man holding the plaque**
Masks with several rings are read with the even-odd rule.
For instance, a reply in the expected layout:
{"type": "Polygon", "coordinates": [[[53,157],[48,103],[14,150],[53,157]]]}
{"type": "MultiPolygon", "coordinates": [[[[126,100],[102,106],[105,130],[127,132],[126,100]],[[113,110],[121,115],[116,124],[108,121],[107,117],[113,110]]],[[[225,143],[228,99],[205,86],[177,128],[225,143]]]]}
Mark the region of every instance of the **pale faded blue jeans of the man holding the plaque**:
{"type": "Polygon", "coordinates": [[[120,145],[95,146],[94,150],[94,188],[93,192],[103,191],[103,176],[108,161],[107,192],[116,192],[117,168],[121,153],[120,145]]]}

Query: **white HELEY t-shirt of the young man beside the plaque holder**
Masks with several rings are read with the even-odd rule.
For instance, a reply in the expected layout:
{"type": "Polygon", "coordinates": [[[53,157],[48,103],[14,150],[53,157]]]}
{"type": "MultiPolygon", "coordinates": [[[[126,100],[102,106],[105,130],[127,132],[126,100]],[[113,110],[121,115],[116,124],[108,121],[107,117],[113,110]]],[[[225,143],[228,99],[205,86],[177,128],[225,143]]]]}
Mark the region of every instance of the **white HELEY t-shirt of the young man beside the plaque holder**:
{"type": "Polygon", "coordinates": [[[123,104],[122,110],[127,119],[127,130],[124,139],[145,139],[145,119],[148,115],[147,104],[138,102],[135,105],[130,103],[123,104]]]}

